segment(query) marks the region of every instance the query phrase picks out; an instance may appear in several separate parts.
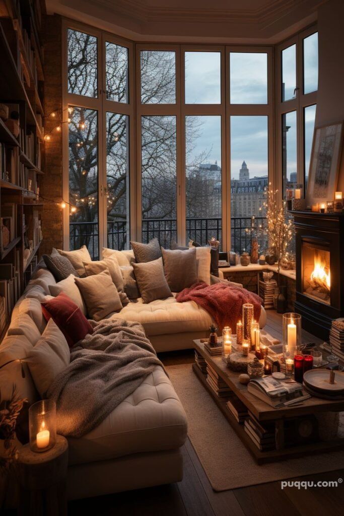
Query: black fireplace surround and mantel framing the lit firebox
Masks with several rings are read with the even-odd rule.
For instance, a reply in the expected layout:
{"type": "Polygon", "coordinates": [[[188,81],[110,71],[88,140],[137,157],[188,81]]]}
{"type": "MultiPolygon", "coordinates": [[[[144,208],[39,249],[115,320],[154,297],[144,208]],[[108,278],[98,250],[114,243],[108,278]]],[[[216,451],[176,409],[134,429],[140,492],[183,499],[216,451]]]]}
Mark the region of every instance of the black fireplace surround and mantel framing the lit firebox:
{"type": "Polygon", "coordinates": [[[329,339],[331,321],[344,316],[344,214],[290,212],[296,231],[296,302],[302,327],[324,340],[329,339]],[[304,292],[302,248],[314,246],[330,251],[330,302],[304,292]]]}

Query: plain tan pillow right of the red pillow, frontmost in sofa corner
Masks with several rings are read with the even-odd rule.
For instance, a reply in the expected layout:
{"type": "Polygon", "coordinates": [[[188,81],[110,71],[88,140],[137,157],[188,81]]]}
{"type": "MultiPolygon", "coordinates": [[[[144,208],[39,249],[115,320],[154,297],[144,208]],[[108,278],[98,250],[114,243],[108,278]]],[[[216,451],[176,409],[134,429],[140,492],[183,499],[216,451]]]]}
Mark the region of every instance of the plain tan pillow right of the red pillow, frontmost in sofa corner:
{"type": "Polygon", "coordinates": [[[85,299],[89,316],[95,321],[122,310],[120,296],[108,270],[87,278],[75,278],[75,283],[85,299]]]}

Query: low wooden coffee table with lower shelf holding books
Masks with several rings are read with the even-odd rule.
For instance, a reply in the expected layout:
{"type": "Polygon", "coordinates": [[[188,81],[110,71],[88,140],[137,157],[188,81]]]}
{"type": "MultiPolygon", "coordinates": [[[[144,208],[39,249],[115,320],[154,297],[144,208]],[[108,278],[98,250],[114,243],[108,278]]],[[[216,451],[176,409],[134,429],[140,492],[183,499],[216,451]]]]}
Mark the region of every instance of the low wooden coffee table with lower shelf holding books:
{"type": "MultiPolygon", "coordinates": [[[[231,389],[231,395],[235,395],[250,412],[250,416],[261,425],[274,426],[274,449],[268,451],[260,451],[257,445],[249,437],[244,429],[243,424],[237,423],[232,412],[227,408],[226,402],[228,398],[218,396],[207,382],[207,373],[203,372],[198,364],[193,364],[193,371],[200,381],[210,393],[216,404],[226,417],[227,421],[235,430],[237,436],[243,444],[249,449],[258,464],[266,462],[276,462],[289,459],[291,457],[302,457],[305,455],[324,453],[344,449],[344,439],[335,439],[332,441],[320,441],[313,438],[312,442],[290,443],[290,432],[288,434],[289,442],[285,439],[286,425],[289,427],[293,424],[296,428],[302,424],[302,420],[312,417],[312,414],[320,412],[340,412],[344,411],[344,400],[331,401],[311,397],[297,407],[283,407],[275,409],[264,401],[260,400],[247,390],[247,385],[239,382],[239,374],[227,367],[222,360],[221,355],[210,355],[205,349],[204,344],[200,340],[194,340],[195,350],[205,359],[206,363],[218,374],[218,376],[231,389]],[[234,394],[233,394],[234,393],[234,394]]],[[[298,438],[296,438],[298,441],[298,438]]]]}

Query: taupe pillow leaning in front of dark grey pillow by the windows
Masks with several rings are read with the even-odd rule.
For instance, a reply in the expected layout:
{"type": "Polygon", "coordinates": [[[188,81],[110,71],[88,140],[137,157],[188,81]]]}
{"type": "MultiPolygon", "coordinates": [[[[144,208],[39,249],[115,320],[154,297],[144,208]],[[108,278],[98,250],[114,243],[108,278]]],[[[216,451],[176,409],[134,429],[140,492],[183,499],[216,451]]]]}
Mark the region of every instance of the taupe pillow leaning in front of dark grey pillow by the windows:
{"type": "Polygon", "coordinates": [[[163,271],[162,258],[148,263],[134,263],[133,267],[144,303],[172,296],[163,271]]]}

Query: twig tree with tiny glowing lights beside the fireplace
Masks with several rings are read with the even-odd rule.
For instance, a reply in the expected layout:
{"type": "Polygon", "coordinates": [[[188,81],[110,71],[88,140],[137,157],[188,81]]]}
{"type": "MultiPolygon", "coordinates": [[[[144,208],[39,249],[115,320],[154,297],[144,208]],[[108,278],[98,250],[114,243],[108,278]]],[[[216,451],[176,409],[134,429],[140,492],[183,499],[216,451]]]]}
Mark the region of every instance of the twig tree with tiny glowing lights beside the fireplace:
{"type": "MultiPolygon", "coordinates": [[[[294,223],[287,214],[286,201],[282,200],[281,202],[278,193],[279,190],[273,190],[271,183],[269,183],[263,208],[266,210],[270,247],[274,248],[277,257],[277,274],[280,287],[281,261],[287,254],[288,245],[294,236],[294,223]]],[[[261,209],[259,208],[259,210],[261,209]]]]}

